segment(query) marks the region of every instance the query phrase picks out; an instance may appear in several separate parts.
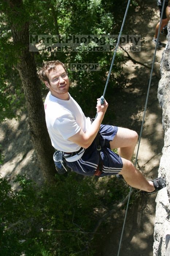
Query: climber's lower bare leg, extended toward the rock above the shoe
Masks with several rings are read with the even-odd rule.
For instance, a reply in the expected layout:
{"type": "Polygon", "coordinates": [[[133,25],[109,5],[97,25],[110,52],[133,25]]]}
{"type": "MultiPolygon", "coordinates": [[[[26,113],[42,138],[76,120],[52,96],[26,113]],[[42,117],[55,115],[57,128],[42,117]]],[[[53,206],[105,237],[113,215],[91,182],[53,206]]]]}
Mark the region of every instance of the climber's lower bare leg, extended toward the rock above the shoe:
{"type": "Polygon", "coordinates": [[[140,173],[129,160],[122,158],[122,162],[123,168],[119,174],[123,176],[127,184],[146,192],[152,192],[155,190],[153,182],[147,181],[142,173],[140,173]]]}

